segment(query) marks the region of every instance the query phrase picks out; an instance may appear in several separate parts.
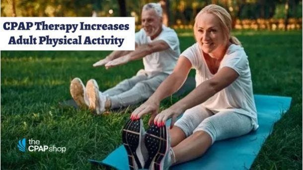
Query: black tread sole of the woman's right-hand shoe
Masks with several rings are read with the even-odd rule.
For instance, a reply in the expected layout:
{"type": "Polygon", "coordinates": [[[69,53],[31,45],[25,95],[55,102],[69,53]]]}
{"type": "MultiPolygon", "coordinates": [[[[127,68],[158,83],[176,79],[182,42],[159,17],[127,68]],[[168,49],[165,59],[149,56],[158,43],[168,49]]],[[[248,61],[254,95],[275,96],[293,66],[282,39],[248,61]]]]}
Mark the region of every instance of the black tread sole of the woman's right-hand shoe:
{"type": "Polygon", "coordinates": [[[149,158],[145,162],[144,169],[162,170],[163,158],[165,157],[168,147],[166,126],[157,127],[152,124],[146,131],[145,145],[149,153],[149,158]]]}

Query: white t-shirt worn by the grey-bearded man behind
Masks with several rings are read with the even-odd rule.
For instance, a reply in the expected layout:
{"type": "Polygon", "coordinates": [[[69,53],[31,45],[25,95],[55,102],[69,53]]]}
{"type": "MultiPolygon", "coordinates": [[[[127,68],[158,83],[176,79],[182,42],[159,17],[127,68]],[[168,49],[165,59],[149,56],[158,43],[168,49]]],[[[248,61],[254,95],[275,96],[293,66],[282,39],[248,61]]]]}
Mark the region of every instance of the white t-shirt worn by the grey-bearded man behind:
{"type": "Polygon", "coordinates": [[[152,53],[143,58],[144,70],[151,73],[164,72],[170,74],[180,56],[179,39],[176,32],[162,25],[162,32],[153,40],[147,36],[144,29],[136,33],[135,41],[138,45],[151,43],[153,41],[165,41],[169,49],[152,53]]]}

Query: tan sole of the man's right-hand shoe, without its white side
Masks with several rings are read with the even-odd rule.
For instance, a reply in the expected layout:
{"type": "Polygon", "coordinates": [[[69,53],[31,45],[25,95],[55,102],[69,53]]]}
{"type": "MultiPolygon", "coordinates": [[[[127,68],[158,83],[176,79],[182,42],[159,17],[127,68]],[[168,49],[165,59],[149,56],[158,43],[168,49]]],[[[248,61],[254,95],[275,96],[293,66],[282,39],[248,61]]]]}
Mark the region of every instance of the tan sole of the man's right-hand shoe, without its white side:
{"type": "Polygon", "coordinates": [[[95,80],[89,80],[86,84],[86,94],[89,100],[88,109],[93,112],[99,114],[99,88],[97,82],[95,80]],[[96,88],[97,87],[97,88],[96,88]]]}

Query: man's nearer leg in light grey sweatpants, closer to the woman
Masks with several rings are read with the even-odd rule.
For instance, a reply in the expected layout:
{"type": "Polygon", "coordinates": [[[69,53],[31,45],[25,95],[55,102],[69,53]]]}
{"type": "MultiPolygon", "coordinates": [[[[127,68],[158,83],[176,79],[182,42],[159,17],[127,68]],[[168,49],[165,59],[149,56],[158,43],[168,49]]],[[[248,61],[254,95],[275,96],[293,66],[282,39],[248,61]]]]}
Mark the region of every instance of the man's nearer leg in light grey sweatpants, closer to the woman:
{"type": "Polygon", "coordinates": [[[138,82],[130,90],[110,96],[111,109],[127,107],[147,100],[168,74],[161,73],[150,79],[138,82]]]}

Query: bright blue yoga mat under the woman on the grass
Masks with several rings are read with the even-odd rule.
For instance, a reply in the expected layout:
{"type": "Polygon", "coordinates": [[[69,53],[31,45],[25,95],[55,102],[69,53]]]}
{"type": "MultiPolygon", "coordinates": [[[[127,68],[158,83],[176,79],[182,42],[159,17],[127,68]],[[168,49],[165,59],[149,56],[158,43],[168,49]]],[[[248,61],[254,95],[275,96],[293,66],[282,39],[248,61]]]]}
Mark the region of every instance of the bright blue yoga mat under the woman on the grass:
{"type": "MultiPolygon", "coordinates": [[[[171,170],[243,170],[250,169],[273,125],[291,104],[292,98],[254,95],[259,129],[247,135],[217,141],[200,158],[171,167],[171,170]]],[[[169,124],[167,121],[166,124],[169,124]]],[[[89,160],[117,170],[128,170],[127,153],[123,145],[103,161],[89,160]]]]}

